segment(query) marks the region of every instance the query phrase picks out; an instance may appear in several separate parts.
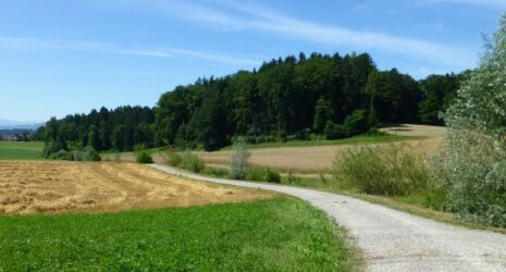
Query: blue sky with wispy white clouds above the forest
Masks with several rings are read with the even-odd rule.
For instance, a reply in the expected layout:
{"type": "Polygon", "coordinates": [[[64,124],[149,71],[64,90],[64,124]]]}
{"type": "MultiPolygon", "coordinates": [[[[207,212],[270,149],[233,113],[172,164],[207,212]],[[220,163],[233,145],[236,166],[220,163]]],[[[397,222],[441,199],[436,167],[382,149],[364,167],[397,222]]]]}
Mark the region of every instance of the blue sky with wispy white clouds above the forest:
{"type": "Polygon", "coordinates": [[[369,52],[420,78],[477,65],[505,0],[0,2],[0,119],[153,106],[280,55],[369,52]]]}

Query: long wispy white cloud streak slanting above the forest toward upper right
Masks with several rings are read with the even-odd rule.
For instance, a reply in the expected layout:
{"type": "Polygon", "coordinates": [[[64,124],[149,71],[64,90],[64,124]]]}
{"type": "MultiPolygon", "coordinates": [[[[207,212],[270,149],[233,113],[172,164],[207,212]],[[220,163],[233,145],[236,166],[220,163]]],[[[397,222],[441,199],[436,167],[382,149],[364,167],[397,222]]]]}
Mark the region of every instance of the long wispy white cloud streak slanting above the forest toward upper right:
{"type": "MultiPolygon", "coordinates": [[[[116,1],[132,3],[138,0],[116,1]]],[[[495,2],[495,0],[484,1],[495,2]]],[[[145,7],[149,5],[150,9],[163,12],[166,16],[201,23],[207,27],[212,25],[229,30],[258,30],[333,48],[349,46],[354,50],[400,53],[411,59],[444,64],[449,69],[458,70],[473,66],[478,59],[478,54],[467,48],[314,23],[285,15],[282,12],[250,1],[206,0],[190,2],[180,0],[145,0],[144,3],[145,7]],[[194,11],[197,12],[195,13],[194,11]]]]}

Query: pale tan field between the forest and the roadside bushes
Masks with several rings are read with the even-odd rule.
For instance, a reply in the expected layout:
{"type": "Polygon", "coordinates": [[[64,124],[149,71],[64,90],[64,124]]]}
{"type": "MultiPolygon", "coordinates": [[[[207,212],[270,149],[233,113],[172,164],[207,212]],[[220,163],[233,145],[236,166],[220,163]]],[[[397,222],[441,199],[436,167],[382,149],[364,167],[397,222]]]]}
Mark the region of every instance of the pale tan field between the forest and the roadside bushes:
{"type": "MultiPolygon", "coordinates": [[[[397,125],[385,127],[382,131],[399,136],[417,137],[417,139],[404,140],[403,143],[412,145],[415,152],[424,154],[432,154],[435,152],[439,147],[441,147],[445,134],[444,127],[427,125],[397,125]]],[[[251,149],[249,162],[252,165],[270,166],[280,171],[289,170],[294,173],[318,173],[329,170],[337,154],[346,152],[346,150],[354,148],[354,144],[348,144],[251,149]]],[[[229,163],[231,151],[196,152],[196,154],[212,166],[224,168],[229,163]]]]}

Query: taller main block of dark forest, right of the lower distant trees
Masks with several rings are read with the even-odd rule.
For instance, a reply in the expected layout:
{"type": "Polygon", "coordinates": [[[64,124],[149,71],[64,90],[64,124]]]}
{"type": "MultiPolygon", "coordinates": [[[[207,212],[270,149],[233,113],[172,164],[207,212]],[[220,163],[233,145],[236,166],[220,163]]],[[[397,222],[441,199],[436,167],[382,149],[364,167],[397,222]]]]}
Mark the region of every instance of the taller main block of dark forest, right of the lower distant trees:
{"type": "Polygon", "coordinates": [[[379,71],[365,54],[272,60],[258,71],[199,79],[162,95],[159,143],[213,150],[234,136],[248,141],[342,138],[381,123],[441,124],[458,76],[417,82],[397,70],[379,71]]]}

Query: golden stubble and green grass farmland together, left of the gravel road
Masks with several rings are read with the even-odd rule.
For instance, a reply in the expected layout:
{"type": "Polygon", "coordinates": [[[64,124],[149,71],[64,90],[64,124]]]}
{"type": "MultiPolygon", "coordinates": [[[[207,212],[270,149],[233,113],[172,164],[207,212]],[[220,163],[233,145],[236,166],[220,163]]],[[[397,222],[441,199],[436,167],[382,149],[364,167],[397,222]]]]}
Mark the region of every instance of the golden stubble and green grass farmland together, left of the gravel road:
{"type": "Polygon", "coordinates": [[[0,271],[348,271],[356,260],[304,201],[133,163],[0,161],[1,213],[0,271]]]}

